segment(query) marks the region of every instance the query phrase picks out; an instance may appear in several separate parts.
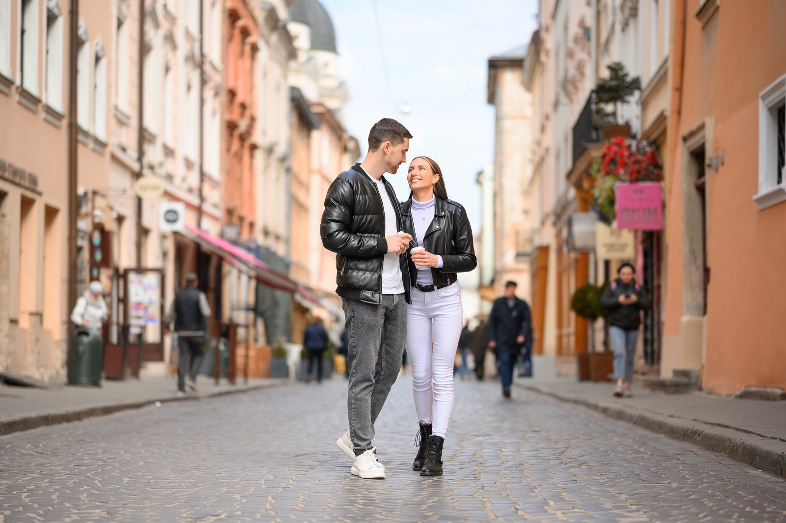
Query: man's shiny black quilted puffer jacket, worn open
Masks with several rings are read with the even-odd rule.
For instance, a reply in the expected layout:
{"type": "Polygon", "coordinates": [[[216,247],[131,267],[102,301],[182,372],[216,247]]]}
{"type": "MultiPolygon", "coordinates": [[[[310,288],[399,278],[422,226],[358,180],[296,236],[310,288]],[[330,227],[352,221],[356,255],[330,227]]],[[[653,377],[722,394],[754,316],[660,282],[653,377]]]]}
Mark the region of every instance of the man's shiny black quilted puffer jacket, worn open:
{"type": "MultiPolygon", "coordinates": [[[[399,202],[382,177],[402,230],[399,202]]],[[[319,227],[322,245],[336,253],[336,294],[361,302],[382,302],[382,262],[387,254],[385,210],[375,182],[355,163],[339,174],[328,188],[319,227]]],[[[410,275],[405,256],[399,256],[404,294],[410,303],[410,275]]]]}

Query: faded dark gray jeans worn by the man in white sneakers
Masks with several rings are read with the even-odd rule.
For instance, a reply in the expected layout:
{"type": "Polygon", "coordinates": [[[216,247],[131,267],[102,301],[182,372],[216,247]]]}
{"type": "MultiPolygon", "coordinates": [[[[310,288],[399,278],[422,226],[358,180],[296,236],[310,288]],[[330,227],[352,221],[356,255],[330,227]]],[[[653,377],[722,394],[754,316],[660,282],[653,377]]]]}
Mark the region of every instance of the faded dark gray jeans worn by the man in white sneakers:
{"type": "Polygon", "coordinates": [[[399,377],[406,340],[404,294],[383,294],[373,305],[343,298],[347,318],[349,394],[347,414],[354,454],[372,448],[374,422],[399,377]]]}

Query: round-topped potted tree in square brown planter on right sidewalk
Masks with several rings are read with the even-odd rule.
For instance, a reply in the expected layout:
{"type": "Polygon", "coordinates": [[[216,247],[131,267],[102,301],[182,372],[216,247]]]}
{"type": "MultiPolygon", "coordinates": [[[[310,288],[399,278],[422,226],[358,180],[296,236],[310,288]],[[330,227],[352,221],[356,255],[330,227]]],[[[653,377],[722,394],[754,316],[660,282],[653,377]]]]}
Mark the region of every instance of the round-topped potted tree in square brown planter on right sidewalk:
{"type": "MultiPolygon", "coordinates": [[[[601,296],[607,286],[608,282],[601,287],[587,283],[576,289],[571,298],[571,309],[589,322],[590,331],[593,333],[597,319],[608,316],[608,312],[601,305],[601,296]]],[[[581,381],[591,379],[593,382],[608,381],[608,375],[614,368],[614,354],[607,350],[597,352],[594,350],[594,345],[594,335],[590,335],[589,352],[578,354],[578,379],[581,381]]]]}

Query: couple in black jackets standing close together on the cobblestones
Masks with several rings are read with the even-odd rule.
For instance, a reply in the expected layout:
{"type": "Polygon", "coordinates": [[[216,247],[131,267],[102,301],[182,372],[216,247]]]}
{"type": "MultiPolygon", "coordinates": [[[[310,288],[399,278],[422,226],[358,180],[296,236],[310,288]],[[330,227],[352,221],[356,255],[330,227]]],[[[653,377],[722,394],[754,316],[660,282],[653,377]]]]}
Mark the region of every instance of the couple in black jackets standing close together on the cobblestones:
{"type": "Polygon", "coordinates": [[[374,124],[363,162],[330,185],[320,227],[322,243],[336,252],[349,342],[349,430],[336,444],[352,459],[351,473],[366,479],[385,477],[372,443],[374,422],[399,375],[405,343],[420,422],[413,469],[442,475],[463,324],[456,273],[477,264],[466,211],[447,199],[434,160],[412,160],[406,202],[385,179],[406,162],[411,137],[394,119],[374,124]]]}

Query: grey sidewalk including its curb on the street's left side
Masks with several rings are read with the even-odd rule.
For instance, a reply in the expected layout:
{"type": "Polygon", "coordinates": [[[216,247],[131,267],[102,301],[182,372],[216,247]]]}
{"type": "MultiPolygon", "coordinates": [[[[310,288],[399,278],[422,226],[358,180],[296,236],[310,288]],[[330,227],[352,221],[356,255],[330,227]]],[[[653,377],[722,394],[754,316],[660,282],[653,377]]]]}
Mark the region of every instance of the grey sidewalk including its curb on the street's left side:
{"type": "Polygon", "coordinates": [[[237,385],[222,379],[216,386],[208,376],[200,376],[199,393],[178,397],[177,378],[156,376],[127,379],[124,382],[104,380],[101,387],[53,386],[50,389],[0,385],[0,436],[39,426],[72,422],[93,416],[107,415],[129,408],[167,401],[197,400],[224,394],[248,392],[264,387],[283,385],[287,379],[249,378],[237,385]]]}

